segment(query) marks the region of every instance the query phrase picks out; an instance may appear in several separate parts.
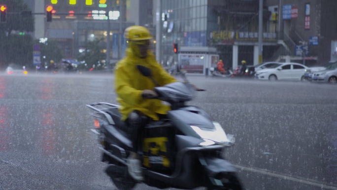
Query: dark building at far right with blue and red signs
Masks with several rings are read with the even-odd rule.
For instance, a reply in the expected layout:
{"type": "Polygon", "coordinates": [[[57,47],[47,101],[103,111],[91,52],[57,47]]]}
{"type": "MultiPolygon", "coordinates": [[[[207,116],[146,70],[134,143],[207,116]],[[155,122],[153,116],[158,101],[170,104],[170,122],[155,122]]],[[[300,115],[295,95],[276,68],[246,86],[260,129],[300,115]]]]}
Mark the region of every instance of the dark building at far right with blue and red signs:
{"type": "Polygon", "coordinates": [[[280,35],[292,61],[310,66],[337,60],[336,0],[267,0],[265,5],[281,7],[280,35]]]}

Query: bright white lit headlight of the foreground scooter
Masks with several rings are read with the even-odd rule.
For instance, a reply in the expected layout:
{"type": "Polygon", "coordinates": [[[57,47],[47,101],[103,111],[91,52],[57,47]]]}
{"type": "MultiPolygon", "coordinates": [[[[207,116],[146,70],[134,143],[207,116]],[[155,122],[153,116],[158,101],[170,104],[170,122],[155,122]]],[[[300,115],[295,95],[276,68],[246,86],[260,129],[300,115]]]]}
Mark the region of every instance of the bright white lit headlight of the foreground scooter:
{"type": "Polygon", "coordinates": [[[233,144],[234,142],[229,140],[225,131],[221,125],[217,122],[213,122],[215,129],[200,128],[198,126],[191,125],[191,128],[203,139],[204,142],[200,143],[201,146],[220,144],[233,144]]]}

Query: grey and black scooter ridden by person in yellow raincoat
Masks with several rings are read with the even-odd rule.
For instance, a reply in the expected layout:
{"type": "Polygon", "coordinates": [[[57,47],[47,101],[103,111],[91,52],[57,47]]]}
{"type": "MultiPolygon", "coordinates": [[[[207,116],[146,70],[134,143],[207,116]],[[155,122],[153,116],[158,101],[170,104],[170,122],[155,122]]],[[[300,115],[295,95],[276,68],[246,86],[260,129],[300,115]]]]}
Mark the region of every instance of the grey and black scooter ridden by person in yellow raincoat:
{"type": "MultiPolygon", "coordinates": [[[[148,68],[137,68],[157,84],[148,68]]],[[[145,127],[142,149],[138,151],[143,183],[160,189],[242,190],[236,167],[222,156],[224,149],[234,145],[235,138],[201,108],[185,105],[193,99],[196,88],[182,77],[185,82],[155,87],[158,97],[144,97],[168,102],[171,111],[167,118],[145,127]]],[[[86,106],[94,117],[92,131],[99,136],[102,161],[108,163],[106,174],[118,189],[133,189],[138,182],[127,171],[131,129],[121,121],[119,106],[103,102],[86,106]]]]}

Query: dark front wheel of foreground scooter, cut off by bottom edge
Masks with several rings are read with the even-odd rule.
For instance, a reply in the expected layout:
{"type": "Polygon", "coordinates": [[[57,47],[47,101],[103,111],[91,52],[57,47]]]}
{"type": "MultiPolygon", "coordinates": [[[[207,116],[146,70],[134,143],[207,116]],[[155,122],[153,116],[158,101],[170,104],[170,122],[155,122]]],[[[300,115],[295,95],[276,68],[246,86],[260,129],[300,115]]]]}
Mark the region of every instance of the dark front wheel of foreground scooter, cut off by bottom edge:
{"type": "Polygon", "coordinates": [[[235,173],[227,173],[223,175],[222,178],[219,179],[222,186],[214,185],[213,180],[214,178],[209,179],[207,190],[243,190],[243,187],[235,173]]]}

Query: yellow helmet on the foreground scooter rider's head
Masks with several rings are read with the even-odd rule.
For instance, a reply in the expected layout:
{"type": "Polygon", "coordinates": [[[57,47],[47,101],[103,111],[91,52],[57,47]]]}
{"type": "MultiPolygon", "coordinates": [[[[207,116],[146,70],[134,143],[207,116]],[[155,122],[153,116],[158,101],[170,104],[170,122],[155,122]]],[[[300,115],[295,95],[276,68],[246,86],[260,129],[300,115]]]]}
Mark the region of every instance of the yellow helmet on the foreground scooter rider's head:
{"type": "Polygon", "coordinates": [[[142,26],[131,26],[125,29],[124,38],[131,41],[140,41],[152,39],[151,33],[147,28],[142,26]]]}

